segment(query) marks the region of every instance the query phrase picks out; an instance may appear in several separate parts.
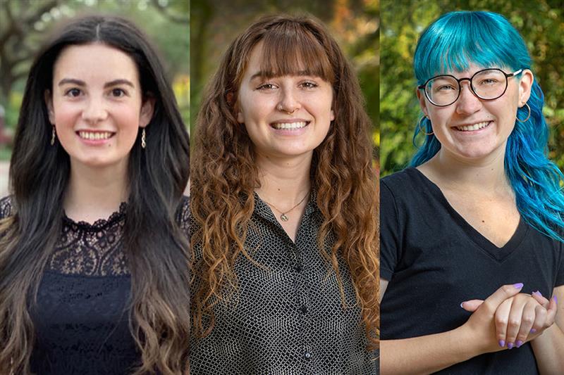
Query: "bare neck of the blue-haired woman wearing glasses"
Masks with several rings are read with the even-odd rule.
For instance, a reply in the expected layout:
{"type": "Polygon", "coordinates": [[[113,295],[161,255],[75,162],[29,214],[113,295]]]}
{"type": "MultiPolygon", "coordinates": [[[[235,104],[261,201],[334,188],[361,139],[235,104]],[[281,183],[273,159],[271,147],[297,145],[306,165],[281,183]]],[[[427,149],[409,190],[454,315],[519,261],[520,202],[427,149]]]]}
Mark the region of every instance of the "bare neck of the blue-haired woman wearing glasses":
{"type": "Polygon", "coordinates": [[[505,148],[479,160],[456,158],[441,149],[421,170],[428,170],[447,189],[512,191],[505,177],[505,148]]]}

